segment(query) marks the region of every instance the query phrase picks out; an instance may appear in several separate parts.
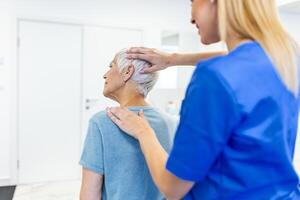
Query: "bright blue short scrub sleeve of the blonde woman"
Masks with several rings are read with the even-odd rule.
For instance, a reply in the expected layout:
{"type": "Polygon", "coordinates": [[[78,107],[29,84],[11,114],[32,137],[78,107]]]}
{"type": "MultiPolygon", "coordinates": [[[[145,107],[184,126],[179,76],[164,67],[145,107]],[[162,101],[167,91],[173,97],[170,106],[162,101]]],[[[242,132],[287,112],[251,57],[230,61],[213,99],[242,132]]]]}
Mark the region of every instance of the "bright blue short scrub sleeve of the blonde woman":
{"type": "Polygon", "coordinates": [[[226,145],[237,121],[235,99],[224,79],[197,69],[187,89],[166,168],[175,176],[204,179],[226,145]]]}

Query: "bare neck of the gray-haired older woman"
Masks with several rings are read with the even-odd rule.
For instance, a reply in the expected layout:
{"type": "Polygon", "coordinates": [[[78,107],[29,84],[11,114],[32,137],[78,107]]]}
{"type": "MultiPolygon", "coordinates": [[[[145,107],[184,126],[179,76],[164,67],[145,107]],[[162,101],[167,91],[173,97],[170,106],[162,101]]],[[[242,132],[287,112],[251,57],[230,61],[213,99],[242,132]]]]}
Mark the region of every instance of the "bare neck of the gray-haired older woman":
{"type": "Polygon", "coordinates": [[[118,103],[121,107],[149,106],[145,97],[139,94],[134,87],[125,87],[117,95],[118,103]]]}

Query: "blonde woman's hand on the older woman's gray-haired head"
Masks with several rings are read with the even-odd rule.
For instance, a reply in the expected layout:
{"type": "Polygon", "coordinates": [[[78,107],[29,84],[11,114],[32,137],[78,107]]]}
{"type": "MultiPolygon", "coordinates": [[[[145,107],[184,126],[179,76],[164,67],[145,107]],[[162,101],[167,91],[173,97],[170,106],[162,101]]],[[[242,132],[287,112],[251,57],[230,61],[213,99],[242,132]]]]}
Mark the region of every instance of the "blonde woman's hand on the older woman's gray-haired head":
{"type": "Polygon", "coordinates": [[[157,49],[133,47],[127,52],[129,59],[141,59],[152,64],[152,67],[143,70],[143,73],[152,73],[172,66],[172,54],[157,49]]]}

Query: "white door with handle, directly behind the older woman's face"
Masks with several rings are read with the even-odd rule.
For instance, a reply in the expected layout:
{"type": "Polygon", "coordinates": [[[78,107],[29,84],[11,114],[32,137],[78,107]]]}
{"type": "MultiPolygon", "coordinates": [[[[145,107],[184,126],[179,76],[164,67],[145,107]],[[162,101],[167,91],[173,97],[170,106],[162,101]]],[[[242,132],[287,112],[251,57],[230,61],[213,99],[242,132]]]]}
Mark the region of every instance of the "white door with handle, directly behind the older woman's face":
{"type": "MultiPolygon", "coordinates": [[[[102,95],[103,75],[115,54],[121,49],[141,46],[142,31],[122,28],[88,26],[84,29],[84,72],[83,72],[83,132],[88,120],[95,113],[117,103],[102,95]]],[[[85,138],[85,134],[83,139],[85,138]]]]}

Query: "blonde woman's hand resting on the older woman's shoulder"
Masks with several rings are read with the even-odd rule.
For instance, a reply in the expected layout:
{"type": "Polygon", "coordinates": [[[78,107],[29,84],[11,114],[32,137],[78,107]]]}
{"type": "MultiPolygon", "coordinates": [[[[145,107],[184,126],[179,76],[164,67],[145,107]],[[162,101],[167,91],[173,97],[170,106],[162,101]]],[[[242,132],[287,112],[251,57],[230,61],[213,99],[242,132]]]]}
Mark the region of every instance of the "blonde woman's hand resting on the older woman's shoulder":
{"type": "Polygon", "coordinates": [[[121,130],[136,139],[139,139],[140,136],[148,131],[153,131],[144,117],[143,110],[139,111],[138,115],[122,107],[107,108],[106,111],[110,119],[121,130]]]}

